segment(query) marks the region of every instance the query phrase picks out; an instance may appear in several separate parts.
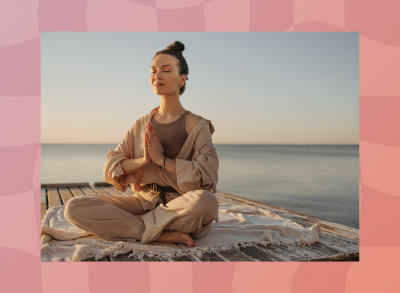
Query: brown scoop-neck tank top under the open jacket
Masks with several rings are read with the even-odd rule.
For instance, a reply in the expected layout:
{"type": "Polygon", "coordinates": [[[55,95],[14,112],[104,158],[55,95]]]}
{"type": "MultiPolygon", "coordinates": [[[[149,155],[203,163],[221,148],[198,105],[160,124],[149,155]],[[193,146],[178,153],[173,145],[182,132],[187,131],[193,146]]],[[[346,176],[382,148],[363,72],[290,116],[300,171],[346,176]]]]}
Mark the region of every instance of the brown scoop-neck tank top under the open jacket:
{"type": "Polygon", "coordinates": [[[178,156],[188,137],[185,127],[185,117],[189,113],[190,111],[186,111],[181,117],[171,123],[158,123],[154,115],[151,118],[151,123],[154,124],[157,136],[164,149],[164,156],[169,159],[175,159],[178,156]]]}

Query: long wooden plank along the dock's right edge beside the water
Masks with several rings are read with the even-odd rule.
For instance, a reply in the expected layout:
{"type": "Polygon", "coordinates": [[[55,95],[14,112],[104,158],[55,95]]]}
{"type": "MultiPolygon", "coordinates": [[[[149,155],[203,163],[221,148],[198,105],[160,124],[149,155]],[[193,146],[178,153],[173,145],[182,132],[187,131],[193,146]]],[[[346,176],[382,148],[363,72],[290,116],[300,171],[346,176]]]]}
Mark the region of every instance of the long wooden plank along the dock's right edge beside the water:
{"type": "MultiPolygon", "coordinates": [[[[219,194],[220,196],[224,197],[225,194],[219,194]]],[[[331,225],[327,225],[325,223],[322,223],[320,221],[316,221],[316,220],[310,220],[307,217],[304,216],[299,216],[298,214],[293,214],[291,213],[292,211],[290,210],[286,210],[286,211],[282,211],[279,209],[275,209],[275,208],[270,208],[270,205],[268,204],[264,204],[264,203],[260,203],[260,202],[256,202],[253,200],[249,200],[249,199],[244,199],[244,198],[238,198],[238,197],[233,197],[231,198],[231,200],[233,202],[239,203],[239,204],[246,204],[246,205],[250,205],[250,206],[256,206],[256,207],[260,207],[260,208],[264,208],[267,210],[270,210],[278,215],[280,215],[281,217],[290,219],[298,224],[302,223],[302,224],[306,224],[307,226],[311,227],[312,225],[314,225],[315,223],[319,223],[322,229],[328,230],[332,233],[338,234],[338,235],[343,235],[349,238],[353,238],[353,239],[358,239],[359,238],[359,234],[358,233],[354,233],[353,231],[347,230],[347,229],[343,229],[343,228],[339,228],[339,227],[334,227],[331,225]]],[[[273,206],[275,207],[275,206],[273,206]]],[[[301,214],[301,213],[300,213],[301,214]]],[[[301,214],[301,215],[305,215],[305,214],[301,214]]],[[[309,216],[309,215],[307,215],[309,216]]],[[[312,217],[312,216],[309,216],[312,217]]]]}

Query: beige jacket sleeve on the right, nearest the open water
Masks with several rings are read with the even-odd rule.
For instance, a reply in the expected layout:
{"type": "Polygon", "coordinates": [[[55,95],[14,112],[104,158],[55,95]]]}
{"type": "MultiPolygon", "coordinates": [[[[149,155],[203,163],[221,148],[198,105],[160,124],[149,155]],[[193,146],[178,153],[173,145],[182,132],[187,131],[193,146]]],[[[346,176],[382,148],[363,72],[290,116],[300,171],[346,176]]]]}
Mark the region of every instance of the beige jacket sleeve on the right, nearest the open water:
{"type": "Polygon", "coordinates": [[[219,160],[211,139],[213,130],[211,124],[199,130],[191,160],[176,159],[177,184],[183,192],[197,189],[217,192],[219,160]]]}

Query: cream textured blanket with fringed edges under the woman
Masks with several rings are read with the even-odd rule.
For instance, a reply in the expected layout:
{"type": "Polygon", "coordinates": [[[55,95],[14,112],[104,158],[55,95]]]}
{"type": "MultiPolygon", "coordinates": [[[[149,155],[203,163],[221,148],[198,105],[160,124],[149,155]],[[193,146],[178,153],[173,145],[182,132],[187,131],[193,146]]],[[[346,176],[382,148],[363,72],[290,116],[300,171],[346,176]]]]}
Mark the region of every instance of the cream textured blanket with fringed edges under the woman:
{"type": "Polygon", "coordinates": [[[145,255],[162,259],[181,256],[201,258],[214,253],[260,245],[310,245],[319,241],[320,225],[305,229],[292,220],[262,208],[220,203],[219,222],[213,222],[210,232],[196,239],[196,247],[185,244],[140,241],[106,241],[69,223],[64,217],[65,206],[47,210],[41,221],[42,261],[82,261],[102,259],[105,255],[130,253],[129,257],[143,260],[145,255]]]}

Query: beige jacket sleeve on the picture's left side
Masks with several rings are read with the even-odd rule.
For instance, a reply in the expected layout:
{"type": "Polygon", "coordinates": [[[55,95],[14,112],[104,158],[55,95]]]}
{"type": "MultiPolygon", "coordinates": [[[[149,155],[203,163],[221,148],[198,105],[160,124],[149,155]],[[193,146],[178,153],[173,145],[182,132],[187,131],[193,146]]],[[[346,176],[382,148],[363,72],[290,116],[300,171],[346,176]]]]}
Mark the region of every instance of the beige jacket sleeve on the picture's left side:
{"type": "Polygon", "coordinates": [[[122,142],[118,144],[115,150],[110,150],[108,152],[103,169],[104,181],[114,185],[114,188],[121,192],[125,192],[128,188],[126,179],[128,175],[131,175],[124,174],[124,170],[121,167],[122,160],[131,159],[133,157],[134,146],[131,134],[132,128],[128,130],[122,142]]]}

